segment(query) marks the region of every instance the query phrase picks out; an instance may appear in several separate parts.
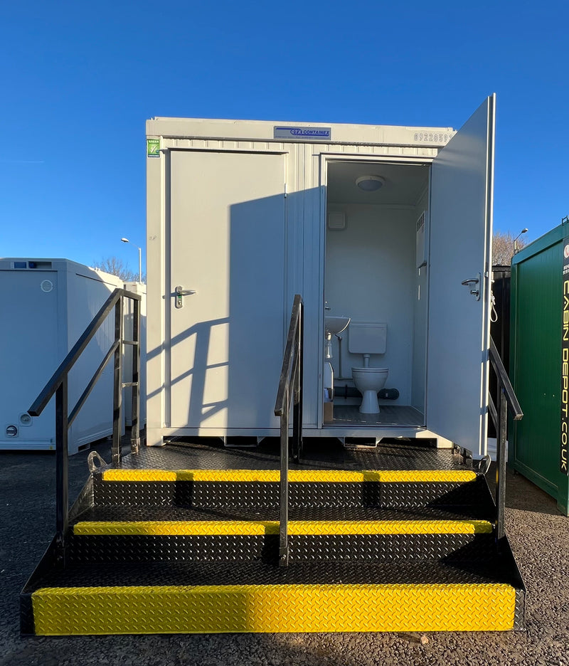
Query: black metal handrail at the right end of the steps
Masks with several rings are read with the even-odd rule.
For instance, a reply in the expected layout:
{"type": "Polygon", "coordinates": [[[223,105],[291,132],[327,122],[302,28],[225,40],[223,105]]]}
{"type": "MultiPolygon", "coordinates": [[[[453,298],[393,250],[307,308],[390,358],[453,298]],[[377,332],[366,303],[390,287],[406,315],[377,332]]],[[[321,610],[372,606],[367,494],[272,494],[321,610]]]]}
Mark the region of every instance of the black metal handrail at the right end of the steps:
{"type": "Polygon", "coordinates": [[[496,427],[496,540],[505,534],[504,519],[506,509],[506,438],[508,430],[508,410],[519,421],[523,417],[521,406],[511,385],[504,363],[500,358],[494,340],[490,338],[489,359],[498,381],[498,407],[489,396],[488,411],[496,427]]]}

